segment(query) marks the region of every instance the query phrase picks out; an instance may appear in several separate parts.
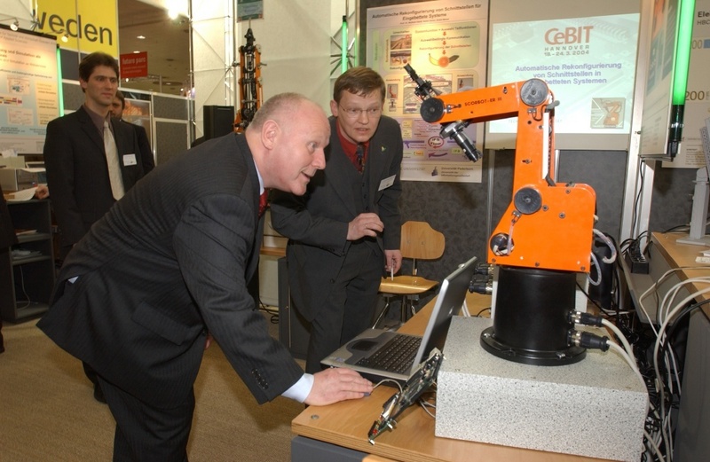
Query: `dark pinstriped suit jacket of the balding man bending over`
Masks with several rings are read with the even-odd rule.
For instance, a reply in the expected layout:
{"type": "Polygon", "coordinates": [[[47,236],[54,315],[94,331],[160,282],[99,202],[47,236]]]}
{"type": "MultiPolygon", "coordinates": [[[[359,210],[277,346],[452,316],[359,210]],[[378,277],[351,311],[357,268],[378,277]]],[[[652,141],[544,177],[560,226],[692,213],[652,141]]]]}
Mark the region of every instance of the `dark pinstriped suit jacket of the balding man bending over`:
{"type": "Polygon", "coordinates": [[[258,262],[258,199],[241,135],[158,166],[68,254],[38,326],[157,406],[191,391],[209,330],[259,403],[279,396],[304,372],[269,336],[247,291],[258,262]]]}

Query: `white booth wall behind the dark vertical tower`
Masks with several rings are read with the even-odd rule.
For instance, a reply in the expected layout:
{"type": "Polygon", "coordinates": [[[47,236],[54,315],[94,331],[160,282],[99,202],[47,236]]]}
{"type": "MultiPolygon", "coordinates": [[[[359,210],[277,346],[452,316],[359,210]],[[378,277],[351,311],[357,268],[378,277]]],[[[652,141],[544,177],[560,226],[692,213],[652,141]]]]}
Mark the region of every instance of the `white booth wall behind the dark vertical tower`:
{"type": "MultiPolygon", "coordinates": [[[[339,53],[331,37],[337,34],[340,42],[340,25],[348,3],[348,11],[354,11],[355,0],[264,0],[264,19],[250,23],[261,50],[264,100],[284,91],[297,91],[327,110],[330,70],[334,66],[330,64],[331,54],[339,53]]],[[[196,137],[202,135],[202,106],[239,104],[239,90],[235,88],[239,68],[231,67],[231,63],[239,62],[238,50],[246,43],[249,23],[237,23],[233,31],[232,10],[231,0],[192,2],[196,137]]],[[[354,31],[353,26],[351,37],[354,31]]]]}

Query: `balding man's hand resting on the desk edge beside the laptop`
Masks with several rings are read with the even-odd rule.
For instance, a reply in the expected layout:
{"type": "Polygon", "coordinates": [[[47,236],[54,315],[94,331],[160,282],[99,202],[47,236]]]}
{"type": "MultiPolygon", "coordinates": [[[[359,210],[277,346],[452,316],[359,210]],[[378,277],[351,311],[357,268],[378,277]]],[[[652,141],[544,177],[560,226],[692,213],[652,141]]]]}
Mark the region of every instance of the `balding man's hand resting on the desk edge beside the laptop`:
{"type": "Polygon", "coordinates": [[[325,406],[346,399],[358,399],[372,393],[369,380],[350,369],[333,367],[313,374],[313,388],[304,403],[325,406]]]}

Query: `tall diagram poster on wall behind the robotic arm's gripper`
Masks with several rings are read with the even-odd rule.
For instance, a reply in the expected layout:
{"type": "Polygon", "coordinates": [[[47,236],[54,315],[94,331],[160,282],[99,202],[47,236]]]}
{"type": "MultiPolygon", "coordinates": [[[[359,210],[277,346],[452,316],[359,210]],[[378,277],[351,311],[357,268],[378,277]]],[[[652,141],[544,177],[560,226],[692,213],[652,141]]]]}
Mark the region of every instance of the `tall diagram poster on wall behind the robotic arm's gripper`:
{"type": "MultiPolygon", "coordinates": [[[[422,120],[410,65],[442,94],[485,85],[488,3],[440,0],[367,9],[367,66],[387,86],[383,114],[399,122],[404,138],[402,180],[481,182],[481,162],[471,162],[441,125],[422,120]]],[[[482,124],[464,131],[476,144],[482,124]]],[[[482,147],[482,146],[481,146],[482,147]]]]}

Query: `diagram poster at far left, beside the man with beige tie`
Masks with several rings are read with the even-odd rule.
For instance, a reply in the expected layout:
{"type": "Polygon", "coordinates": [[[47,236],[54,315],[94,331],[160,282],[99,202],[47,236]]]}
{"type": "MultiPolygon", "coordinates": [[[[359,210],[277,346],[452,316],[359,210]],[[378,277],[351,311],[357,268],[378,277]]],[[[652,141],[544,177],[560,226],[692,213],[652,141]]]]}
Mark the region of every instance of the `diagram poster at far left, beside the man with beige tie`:
{"type": "Polygon", "coordinates": [[[54,37],[0,29],[0,150],[42,153],[59,117],[57,75],[54,37]]]}

